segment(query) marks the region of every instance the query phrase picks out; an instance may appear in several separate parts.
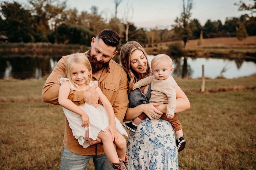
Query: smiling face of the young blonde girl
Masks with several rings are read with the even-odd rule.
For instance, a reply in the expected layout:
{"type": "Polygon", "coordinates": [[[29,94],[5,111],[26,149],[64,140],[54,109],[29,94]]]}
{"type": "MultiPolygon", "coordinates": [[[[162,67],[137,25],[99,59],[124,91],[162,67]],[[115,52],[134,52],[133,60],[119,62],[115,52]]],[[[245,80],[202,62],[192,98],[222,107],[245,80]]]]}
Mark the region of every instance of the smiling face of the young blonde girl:
{"type": "Polygon", "coordinates": [[[70,71],[71,80],[78,85],[85,84],[90,75],[88,68],[78,63],[74,63],[70,71]]]}

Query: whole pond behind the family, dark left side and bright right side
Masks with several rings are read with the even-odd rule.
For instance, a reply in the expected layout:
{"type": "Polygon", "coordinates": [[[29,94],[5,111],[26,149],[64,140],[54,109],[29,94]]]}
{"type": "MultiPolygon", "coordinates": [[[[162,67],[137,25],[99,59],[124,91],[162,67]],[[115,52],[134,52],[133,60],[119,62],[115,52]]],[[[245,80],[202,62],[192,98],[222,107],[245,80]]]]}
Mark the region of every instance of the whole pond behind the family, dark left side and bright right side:
{"type": "MultiPolygon", "coordinates": [[[[40,79],[51,73],[63,55],[66,54],[58,54],[54,57],[29,57],[25,55],[1,57],[0,79],[9,79],[9,77],[40,79]]],[[[153,55],[148,56],[150,62],[153,57],[153,55]]],[[[114,60],[119,62],[119,56],[116,56],[114,60]]],[[[242,59],[176,57],[175,60],[172,75],[178,77],[199,78],[202,76],[202,65],[204,65],[205,77],[212,79],[218,76],[232,79],[256,73],[256,63],[242,59]]]]}

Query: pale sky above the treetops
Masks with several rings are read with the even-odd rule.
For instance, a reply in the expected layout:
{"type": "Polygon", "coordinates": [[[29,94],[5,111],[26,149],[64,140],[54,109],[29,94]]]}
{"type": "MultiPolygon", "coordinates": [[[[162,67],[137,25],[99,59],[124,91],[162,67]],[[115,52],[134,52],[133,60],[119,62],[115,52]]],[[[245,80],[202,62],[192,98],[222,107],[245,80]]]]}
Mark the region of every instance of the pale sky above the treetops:
{"type": "MultiPolygon", "coordinates": [[[[27,4],[26,0],[15,0],[20,4],[27,4]]],[[[62,1],[62,0],[59,0],[62,1]]],[[[238,11],[240,0],[193,0],[191,19],[198,19],[204,25],[208,19],[211,21],[220,20],[224,24],[226,18],[240,17],[246,14],[245,11],[238,11]]],[[[246,4],[252,4],[250,0],[242,0],[246,4]]],[[[13,1],[7,1],[13,2],[13,1]]],[[[186,4],[185,0],[185,4],[186,4]]],[[[122,0],[118,6],[118,18],[124,18],[124,11],[127,11],[127,4],[130,7],[129,20],[137,28],[158,28],[170,29],[176,17],[182,12],[182,0],[122,0]],[[133,9],[133,12],[132,12],[133,9]],[[133,14],[133,15],[132,15],[133,14]]],[[[67,8],[76,8],[79,12],[88,11],[97,6],[106,20],[114,16],[114,0],[67,0],[67,8]]],[[[247,12],[248,13],[248,12],[247,12]]]]}

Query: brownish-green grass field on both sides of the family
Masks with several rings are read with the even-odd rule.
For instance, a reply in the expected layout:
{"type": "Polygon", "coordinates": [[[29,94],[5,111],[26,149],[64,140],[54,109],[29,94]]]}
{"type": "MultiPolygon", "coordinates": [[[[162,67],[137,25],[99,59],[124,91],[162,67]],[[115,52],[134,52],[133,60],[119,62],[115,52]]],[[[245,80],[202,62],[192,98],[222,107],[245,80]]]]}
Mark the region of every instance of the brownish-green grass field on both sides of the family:
{"type": "MultiPolygon", "coordinates": [[[[0,169],[59,169],[65,116],[41,101],[45,80],[0,80],[0,169]]],[[[256,76],[206,79],[206,93],[200,79],[175,80],[191,103],[178,114],[180,169],[256,169],[256,76]]]]}

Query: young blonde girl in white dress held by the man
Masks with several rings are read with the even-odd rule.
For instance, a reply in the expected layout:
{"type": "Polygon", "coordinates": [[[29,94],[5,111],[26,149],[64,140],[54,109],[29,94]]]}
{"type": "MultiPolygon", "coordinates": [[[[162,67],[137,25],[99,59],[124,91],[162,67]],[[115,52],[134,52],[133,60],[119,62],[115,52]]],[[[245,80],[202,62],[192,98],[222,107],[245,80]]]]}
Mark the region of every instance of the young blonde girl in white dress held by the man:
{"type": "Polygon", "coordinates": [[[73,135],[80,145],[86,148],[90,146],[84,140],[84,134],[88,130],[90,138],[96,140],[99,137],[102,140],[104,152],[111,165],[124,167],[124,163],[127,163],[127,156],[126,140],[122,135],[128,135],[120,121],[114,116],[113,107],[101,89],[97,87],[95,90],[104,107],[98,104],[95,108],[88,103],[77,106],[68,99],[70,90],[88,90],[98,83],[98,81],[92,81],[92,69],[88,58],[82,54],[71,55],[66,62],[65,77],[60,79],[58,100],[63,106],[73,135]],[[125,161],[121,161],[119,157],[125,161]]]}

